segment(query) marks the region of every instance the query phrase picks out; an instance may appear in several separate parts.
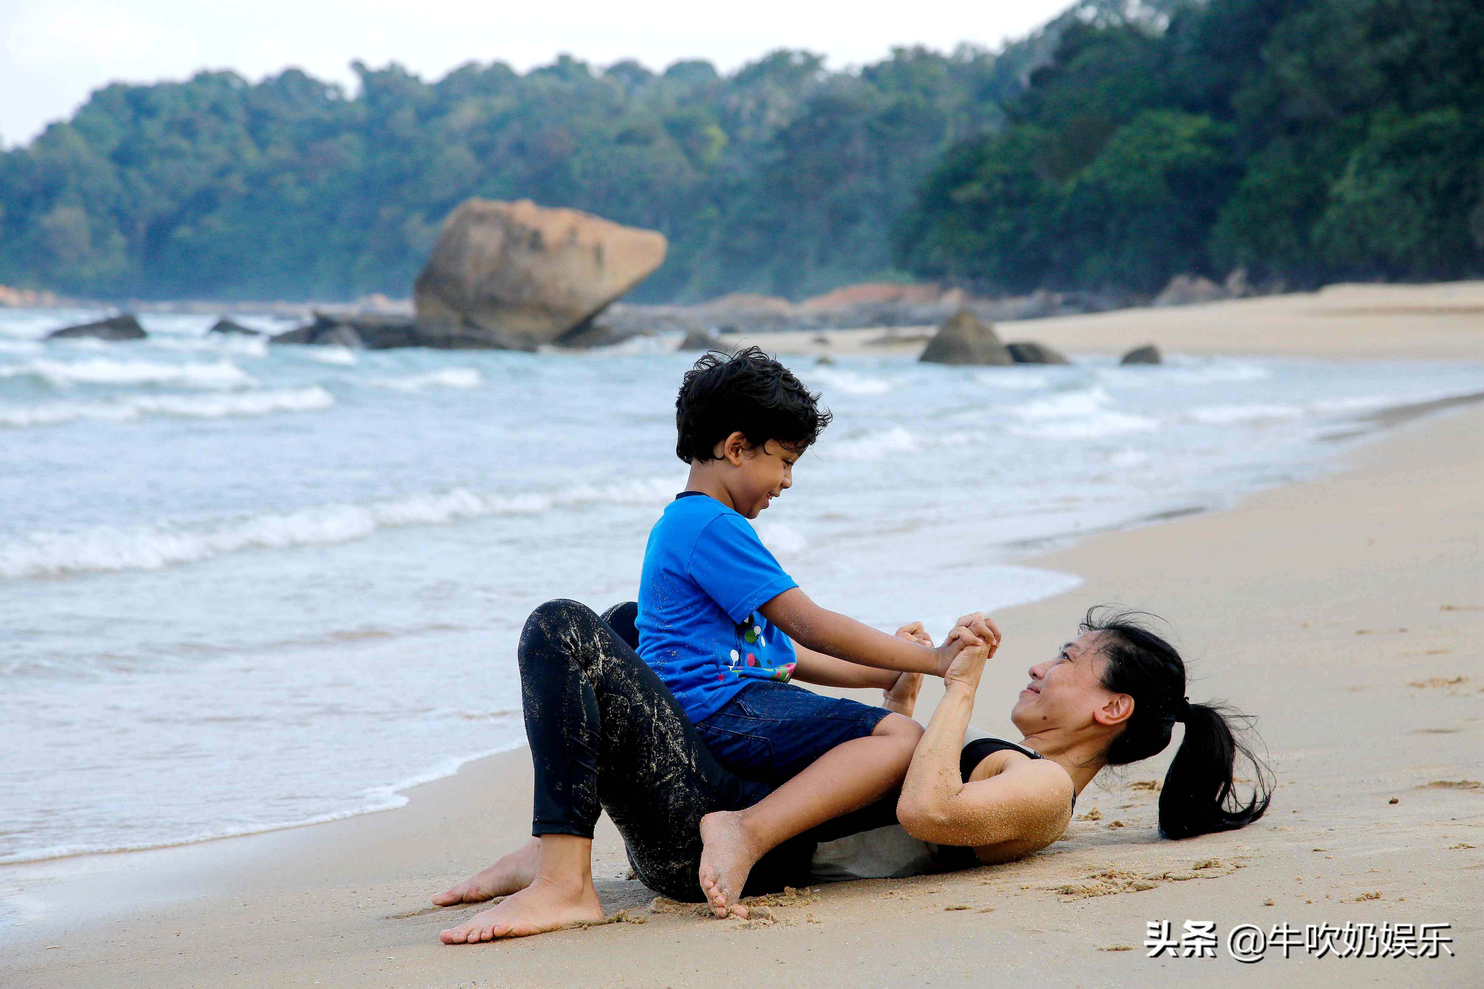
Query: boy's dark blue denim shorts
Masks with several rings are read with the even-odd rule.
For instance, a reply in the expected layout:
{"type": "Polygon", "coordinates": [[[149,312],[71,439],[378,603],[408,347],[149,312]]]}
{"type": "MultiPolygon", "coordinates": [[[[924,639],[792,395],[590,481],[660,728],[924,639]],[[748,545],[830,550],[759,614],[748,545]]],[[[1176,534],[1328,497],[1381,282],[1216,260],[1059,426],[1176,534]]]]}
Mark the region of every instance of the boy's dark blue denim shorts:
{"type": "Polygon", "coordinates": [[[889,713],[792,684],[752,681],[697,722],[696,734],[730,773],[779,786],[835,746],[870,735],[889,713]]]}

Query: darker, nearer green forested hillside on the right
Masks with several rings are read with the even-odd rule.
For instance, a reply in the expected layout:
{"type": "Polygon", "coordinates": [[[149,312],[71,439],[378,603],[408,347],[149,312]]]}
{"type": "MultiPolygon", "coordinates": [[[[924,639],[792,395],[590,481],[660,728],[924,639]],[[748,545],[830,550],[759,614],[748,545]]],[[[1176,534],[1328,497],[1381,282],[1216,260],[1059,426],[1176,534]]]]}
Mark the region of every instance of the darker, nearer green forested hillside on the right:
{"type": "Polygon", "coordinates": [[[1480,0],[1209,0],[1061,36],[896,227],[985,291],[1484,273],[1480,0]]]}

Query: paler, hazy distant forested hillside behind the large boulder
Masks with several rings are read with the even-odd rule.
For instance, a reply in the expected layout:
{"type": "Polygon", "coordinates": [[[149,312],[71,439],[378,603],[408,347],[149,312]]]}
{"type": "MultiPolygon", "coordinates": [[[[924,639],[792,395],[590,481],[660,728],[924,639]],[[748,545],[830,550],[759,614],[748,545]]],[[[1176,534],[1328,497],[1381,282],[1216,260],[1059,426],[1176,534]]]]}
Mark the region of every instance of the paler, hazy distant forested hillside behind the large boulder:
{"type": "Polygon", "coordinates": [[[1031,59],[920,49],[858,73],[776,52],[735,74],[562,58],[436,83],[356,65],[113,85],[0,159],[0,283],[223,298],[407,295],[469,196],[574,206],[671,239],[649,298],[798,295],[890,268],[936,157],[996,126],[1031,59]]]}

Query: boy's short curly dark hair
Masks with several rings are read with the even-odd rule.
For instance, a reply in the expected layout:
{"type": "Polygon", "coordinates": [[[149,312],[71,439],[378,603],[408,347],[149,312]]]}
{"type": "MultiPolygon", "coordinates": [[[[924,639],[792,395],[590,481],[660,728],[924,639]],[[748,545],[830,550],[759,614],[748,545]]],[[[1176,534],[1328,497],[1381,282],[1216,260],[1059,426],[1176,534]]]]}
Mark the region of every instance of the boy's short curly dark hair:
{"type": "Polygon", "coordinates": [[[776,440],[803,452],[830,426],[830,409],[819,408],[794,372],[758,347],[735,354],[712,350],[686,372],[675,399],[675,455],[687,464],[715,460],[717,443],[741,431],[749,446],[776,440]]]}

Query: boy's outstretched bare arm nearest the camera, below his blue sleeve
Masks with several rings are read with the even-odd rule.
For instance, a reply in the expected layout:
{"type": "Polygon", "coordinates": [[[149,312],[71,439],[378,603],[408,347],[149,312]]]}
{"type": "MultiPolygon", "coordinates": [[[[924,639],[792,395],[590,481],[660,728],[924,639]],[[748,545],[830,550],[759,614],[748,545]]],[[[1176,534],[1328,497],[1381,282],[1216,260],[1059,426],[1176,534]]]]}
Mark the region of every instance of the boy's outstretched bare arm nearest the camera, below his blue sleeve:
{"type": "Polygon", "coordinates": [[[901,673],[942,676],[965,646],[999,644],[993,621],[974,612],[960,618],[941,646],[930,648],[877,632],[855,618],[821,608],[798,587],[791,587],[758,608],[763,617],[794,641],[815,652],[901,673]]]}

